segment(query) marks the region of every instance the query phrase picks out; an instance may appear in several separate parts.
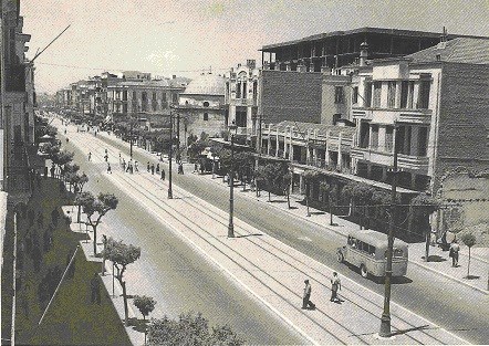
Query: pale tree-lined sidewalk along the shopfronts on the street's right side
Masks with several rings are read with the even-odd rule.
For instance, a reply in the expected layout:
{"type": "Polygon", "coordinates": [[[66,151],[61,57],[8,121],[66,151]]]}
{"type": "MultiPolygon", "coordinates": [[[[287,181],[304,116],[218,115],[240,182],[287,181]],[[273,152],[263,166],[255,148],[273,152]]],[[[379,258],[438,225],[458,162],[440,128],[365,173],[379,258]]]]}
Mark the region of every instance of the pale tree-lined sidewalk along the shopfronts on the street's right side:
{"type": "MultiPolygon", "coordinates": [[[[127,143],[123,141],[121,138],[115,137],[115,135],[107,135],[106,133],[98,133],[101,137],[106,137],[112,140],[117,140],[126,146],[127,143]]],[[[138,150],[138,153],[146,155],[148,158],[157,158],[156,154],[149,154],[143,148],[134,147],[134,150],[138,150]]],[[[164,161],[168,162],[168,159],[164,161]]],[[[194,171],[194,164],[184,164],[184,170],[186,174],[191,174],[194,171]]],[[[217,177],[212,179],[212,175],[210,174],[194,174],[199,179],[207,179],[209,182],[214,182],[220,185],[223,188],[227,188],[227,184],[222,182],[222,177],[217,177]]],[[[254,191],[251,191],[247,188],[246,192],[242,192],[242,188],[236,187],[236,192],[239,191],[240,197],[251,198],[258,200],[260,202],[266,202],[268,206],[277,208],[278,210],[285,212],[290,216],[301,218],[306,222],[312,222],[318,226],[324,227],[330,231],[333,231],[337,234],[341,234],[346,238],[348,230],[358,229],[358,224],[344,220],[342,218],[333,216],[334,223],[336,226],[330,224],[330,214],[327,212],[323,212],[321,210],[314,209],[310,207],[311,217],[306,217],[306,207],[303,203],[299,203],[303,200],[303,196],[293,195],[290,197],[291,205],[293,205],[294,209],[288,209],[287,203],[270,203],[268,202],[268,192],[261,191],[261,197],[257,197],[254,191]]],[[[272,200],[283,200],[283,196],[274,196],[272,195],[272,200]]],[[[437,247],[429,248],[429,256],[433,259],[430,262],[424,261],[425,256],[425,242],[419,243],[410,243],[409,244],[409,263],[422,266],[433,273],[437,273],[445,277],[448,277],[455,282],[464,284],[466,286],[472,287],[478,292],[482,292],[485,294],[489,294],[489,248],[472,248],[471,249],[471,258],[470,258],[470,275],[474,279],[467,279],[467,263],[468,263],[468,248],[460,242],[460,253],[459,253],[459,266],[451,266],[451,259],[448,256],[448,251],[443,252],[441,249],[437,247]]]]}

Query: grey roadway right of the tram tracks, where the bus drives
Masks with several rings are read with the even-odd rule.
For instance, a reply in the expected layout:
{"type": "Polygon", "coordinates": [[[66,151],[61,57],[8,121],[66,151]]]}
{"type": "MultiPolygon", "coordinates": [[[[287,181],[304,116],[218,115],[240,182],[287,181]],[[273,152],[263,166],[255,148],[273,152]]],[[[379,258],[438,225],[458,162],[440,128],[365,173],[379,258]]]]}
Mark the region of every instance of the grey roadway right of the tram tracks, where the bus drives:
{"type": "MultiPolygon", "coordinates": [[[[127,148],[117,140],[104,140],[127,155],[127,148]]],[[[146,166],[147,156],[137,153],[137,150],[135,159],[143,162],[142,166],[146,166]]],[[[156,157],[154,161],[156,162],[156,157]]],[[[167,169],[166,166],[165,169],[167,169]]],[[[190,174],[174,175],[174,184],[222,210],[229,208],[229,192],[223,185],[209,184],[207,179],[190,174]]],[[[344,276],[358,281],[364,286],[383,294],[383,284],[364,280],[357,273],[336,263],[335,249],[343,244],[342,237],[327,231],[326,228],[320,228],[304,222],[303,219],[279,212],[268,203],[242,198],[239,196],[238,189],[235,193],[235,212],[239,219],[281,239],[284,243],[319,262],[336,269],[344,276]]],[[[469,342],[485,344],[489,339],[488,296],[422,268],[412,265],[407,277],[395,282],[393,301],[469,342]]]]}

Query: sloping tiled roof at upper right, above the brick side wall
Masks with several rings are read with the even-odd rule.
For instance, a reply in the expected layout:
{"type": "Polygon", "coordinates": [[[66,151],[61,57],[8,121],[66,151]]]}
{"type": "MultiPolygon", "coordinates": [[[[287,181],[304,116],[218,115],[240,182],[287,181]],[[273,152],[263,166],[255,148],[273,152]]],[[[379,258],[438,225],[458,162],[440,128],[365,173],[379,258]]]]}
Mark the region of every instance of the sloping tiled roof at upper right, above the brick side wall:
{"type": "Polygon", "coordinates": [[[489,39],[458,38],[406,55],[413,62],[489,64],[489,39]]]}

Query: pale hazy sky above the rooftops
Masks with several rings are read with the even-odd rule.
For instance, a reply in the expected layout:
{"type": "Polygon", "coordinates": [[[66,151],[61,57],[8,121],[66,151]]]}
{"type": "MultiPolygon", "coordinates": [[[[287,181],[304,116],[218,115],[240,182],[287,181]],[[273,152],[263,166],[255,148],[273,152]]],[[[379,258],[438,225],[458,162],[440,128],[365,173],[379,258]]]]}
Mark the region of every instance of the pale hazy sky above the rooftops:
{"type": "Polygon", "coordinates": [[[223,74],[263,45],[362,27],[489,36],[489,0],[21,0],[38,93],[104,71],[223,74]]]}

